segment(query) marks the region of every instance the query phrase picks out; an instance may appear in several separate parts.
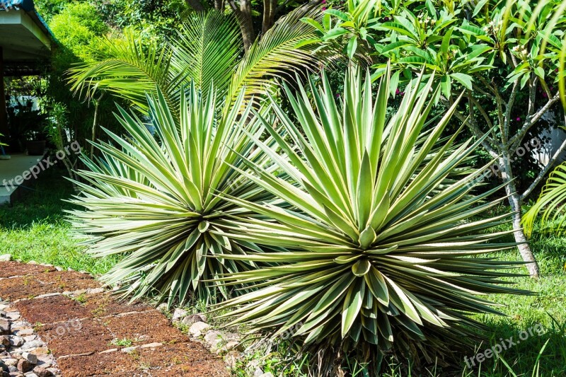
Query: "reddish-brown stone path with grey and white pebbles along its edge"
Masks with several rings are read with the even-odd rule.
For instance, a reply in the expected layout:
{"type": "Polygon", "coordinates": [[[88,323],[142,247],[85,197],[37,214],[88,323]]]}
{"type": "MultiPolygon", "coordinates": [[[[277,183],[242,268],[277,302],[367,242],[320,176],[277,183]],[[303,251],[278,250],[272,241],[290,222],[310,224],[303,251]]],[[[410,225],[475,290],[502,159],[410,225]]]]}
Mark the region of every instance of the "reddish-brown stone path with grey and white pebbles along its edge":
{"type": "Polygon", "coordinates": [[[88,274],[19,262],[0,262],[1,369],[3,377],[229,376],[154,308],[115,301],[88,274]]]}

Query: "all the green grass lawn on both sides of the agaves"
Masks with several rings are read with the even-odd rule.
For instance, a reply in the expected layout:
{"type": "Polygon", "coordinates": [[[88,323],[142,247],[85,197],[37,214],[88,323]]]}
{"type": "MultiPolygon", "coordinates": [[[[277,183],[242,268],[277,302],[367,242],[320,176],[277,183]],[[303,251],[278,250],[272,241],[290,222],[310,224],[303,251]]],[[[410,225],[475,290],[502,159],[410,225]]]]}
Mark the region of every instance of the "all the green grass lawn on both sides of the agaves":
{"type": "MultiPolygon", "coordinates": [[[[71,237],[68,224],[64,221],[64,209],[70,204],[62,201],[73,194],[73,188],[64,180],[60,171],[47,170],[26,190],[20,202],[13,206],[0,206],[0,254],[9,253],[14,259],[28,262],[50,263],[64,268],[86,270],[101,274],[116,261],[114,257],[93,259],[77,246],[71,237]]],[[[533,296],[502,296],[490,298],[501,303],[500,310],[507,316],[481,315],[477,319],[485,323],[489,330],[486,336],[489,342],[476,344],[478,351],[484,351],[500,339],[513,337],[519,340],[519,332],[541,324],[544,334],[533,335],[504,350],[499,358],[491,357],[478,369],[466,369],[466,364],[456,367],[457,376],[566,376],[566,238],[542,236],[536,233],[531,240],[542,277],[534,280],[529,277],[514,278],[516,288],[536,292],[533,296]],[[545,342],[545,349],[543,348],[545,342]],[[507,364],[507,365],[506,365],[507,364]],[[536,366],[539,366],[538,373],[536,366]],[[533,374],[533,369],[535,373],[533,374]]],[[[518,260],[517,251],[497,253],[495,257],[504,260],[518,260]]],[[[526,269],[519,269],[526,273],[526,269]]],[[[470,352],[468,357],[473,357],[470,352]]],[[[463,359],[463,357],[462,357],[463,359]]],[[[440,364],[440,363],[439,363],[440,364]]],[[[275,368],[277,370],[277,368],[275,368]]],[[[452,366],[451,371],[454,371],[452,366]]],[[[391,364],[389,376],[405,376],[400,372],[400,364],[391,364]]],[[[287,374],[289,376],[296,374],[287,374]]],[[[362,376],[362,375],[359,375],[362,376]]],[[[446,369],[440,366],[435,371],[430,369],[423,376],[448,376],[446,369]]]]}

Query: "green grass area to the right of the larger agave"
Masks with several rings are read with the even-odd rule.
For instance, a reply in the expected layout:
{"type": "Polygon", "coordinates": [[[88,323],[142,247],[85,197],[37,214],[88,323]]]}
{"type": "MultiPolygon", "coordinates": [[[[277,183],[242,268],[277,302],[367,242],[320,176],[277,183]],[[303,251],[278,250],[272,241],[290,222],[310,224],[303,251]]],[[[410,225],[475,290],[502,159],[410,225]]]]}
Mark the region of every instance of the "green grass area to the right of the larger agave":
{"type": "MultiPolygon", "coordinates": [[[[515,281],[516,288],[535,294],[492,295],[490,299],[502,304],[500,310],[507,316],[478,316],[478,320],[489,325],[487,335],[491,338],[491,344],[478,344],[478,349],[485,350],[500,343],[500,339],[509,337],[520,341],[504,350],[499,359],[491,358],[484,362],[481,376],[566,376],[566,238],[533,233],[531,248],[541,267],[541,279],[521,277],[507,280],[515,281]],[[531,331],[534,335],[529,335],[526,340],[519,338],[519,332],[529,332],[529,328],[536,324],[543,327],[543,335],[531,331]],[[537,362],[539,353],[540,361],[537,362]]],[[[520,258],[516,250],[494,256],[504,260],[520,258]]],[[[526,274],[524,267],[518,270],[526,274]]],[[[477,376],[478,370],[471,375],[477,376]]]]}

